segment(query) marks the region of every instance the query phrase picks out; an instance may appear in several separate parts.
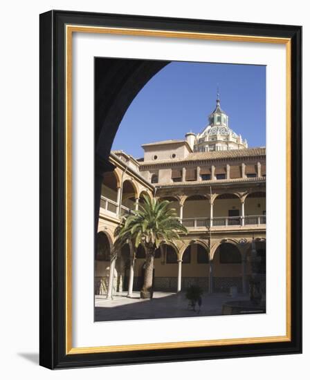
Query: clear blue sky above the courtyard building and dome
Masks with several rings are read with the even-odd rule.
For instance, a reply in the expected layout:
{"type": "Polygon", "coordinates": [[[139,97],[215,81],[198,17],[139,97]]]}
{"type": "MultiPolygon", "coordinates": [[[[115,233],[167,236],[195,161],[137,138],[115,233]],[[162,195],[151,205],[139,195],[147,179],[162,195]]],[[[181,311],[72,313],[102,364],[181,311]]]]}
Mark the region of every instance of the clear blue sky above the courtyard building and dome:
{"type": "Polygon", "coordinates": [[[140,158],[141,144],[178,140],[189,131],[201,132],[215,109],[217,86],[230,128],[241,133],[248,146],[265,146],[265,66],[172,62],[135,97],[112,149],[140,158]]]}

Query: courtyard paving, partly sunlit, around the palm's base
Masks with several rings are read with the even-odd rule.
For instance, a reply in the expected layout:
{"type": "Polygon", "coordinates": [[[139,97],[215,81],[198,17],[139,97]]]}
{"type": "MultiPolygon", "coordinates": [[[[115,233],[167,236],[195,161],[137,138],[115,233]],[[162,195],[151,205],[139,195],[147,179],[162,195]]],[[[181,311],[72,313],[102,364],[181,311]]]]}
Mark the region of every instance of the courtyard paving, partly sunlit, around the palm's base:
{"type": "Polygon", "coordinates": [[[190,310],[185,293],[154,292],[152,300],[140,299],[140,293],[134,292],[131,298],[127,293],[95,296],[95,321],[127,321],[132,319],[176,318],[188,316],[215,316],[222,314],[222,305],[228,301],[248,300],[248,295],[203,294],[201,309],[190,310]]]}

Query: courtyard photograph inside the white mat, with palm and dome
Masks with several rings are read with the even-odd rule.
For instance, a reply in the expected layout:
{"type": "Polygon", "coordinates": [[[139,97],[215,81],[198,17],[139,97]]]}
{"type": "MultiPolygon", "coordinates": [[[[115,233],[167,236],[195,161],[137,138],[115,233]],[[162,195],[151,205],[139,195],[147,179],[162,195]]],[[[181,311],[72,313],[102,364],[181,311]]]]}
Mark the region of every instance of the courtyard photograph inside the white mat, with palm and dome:
{"type": "MultiPolygon", "coordinates": [[[[94,60],[97,93],[137,61],[94,60]]],[[[265,314],[266,66],[147,64],[94,207],[94,321],[265,314]]]]}

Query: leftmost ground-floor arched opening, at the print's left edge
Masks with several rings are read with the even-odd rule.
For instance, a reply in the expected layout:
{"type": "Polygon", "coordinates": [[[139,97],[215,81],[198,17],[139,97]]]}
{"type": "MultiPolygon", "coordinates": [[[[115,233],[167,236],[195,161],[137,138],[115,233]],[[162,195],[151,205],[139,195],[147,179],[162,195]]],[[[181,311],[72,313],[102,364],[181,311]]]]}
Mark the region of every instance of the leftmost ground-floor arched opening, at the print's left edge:
{"type": "Polygon", "coordinates": [[[111,249],[107,234],[103,231],[98,232],[95,249],[95,294],[107,294],[111,249]]]}

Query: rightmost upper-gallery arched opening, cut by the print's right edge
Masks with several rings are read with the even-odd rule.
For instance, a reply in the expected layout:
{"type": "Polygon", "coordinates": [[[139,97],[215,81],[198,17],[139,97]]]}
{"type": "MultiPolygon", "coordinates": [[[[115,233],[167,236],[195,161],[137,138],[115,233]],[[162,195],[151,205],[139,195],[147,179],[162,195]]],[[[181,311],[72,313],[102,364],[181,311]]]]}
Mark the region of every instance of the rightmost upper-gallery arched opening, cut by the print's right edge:
{"type": "Polygon", "coordinates": [[[264,191],[248,194],[244,202],[244,216],[245,225],[266,224],[266,193],[264,191]]]}

